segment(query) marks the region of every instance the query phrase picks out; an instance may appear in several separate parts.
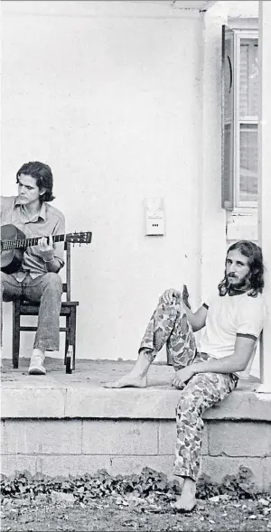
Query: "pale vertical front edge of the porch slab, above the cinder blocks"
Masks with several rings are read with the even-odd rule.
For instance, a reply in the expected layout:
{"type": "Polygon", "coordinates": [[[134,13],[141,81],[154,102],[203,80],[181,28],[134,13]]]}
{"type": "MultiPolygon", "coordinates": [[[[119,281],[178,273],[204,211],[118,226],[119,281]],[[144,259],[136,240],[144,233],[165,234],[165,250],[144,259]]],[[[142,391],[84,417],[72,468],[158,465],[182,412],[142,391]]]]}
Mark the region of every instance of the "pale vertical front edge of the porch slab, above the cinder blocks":
{"type": "MultiPolygon", "coordinates": [[[[73,383],[66,387],[6,386],[1,390],[3,418],[174,419],[180,392],[170,387],[106,389],[73,383]]],[[[271,421],[271,395],[235,390],[204,419],[271,421]]]]}

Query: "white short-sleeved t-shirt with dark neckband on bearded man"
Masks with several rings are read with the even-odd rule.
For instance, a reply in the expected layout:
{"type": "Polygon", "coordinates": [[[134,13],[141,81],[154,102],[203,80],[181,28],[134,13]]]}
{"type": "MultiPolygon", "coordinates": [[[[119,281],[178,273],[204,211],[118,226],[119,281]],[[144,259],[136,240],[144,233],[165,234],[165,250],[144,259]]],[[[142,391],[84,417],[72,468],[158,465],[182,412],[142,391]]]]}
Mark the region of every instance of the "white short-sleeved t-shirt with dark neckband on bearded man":
{"type": "MultiPolygon", "coordinates": [[[[220,296],[219,292],[205,300],[208,307],[206,327],[198,350],[215,359],[234,353],[236,336],[253,337],[257,340],[266,319],[266,302],[263,294],[251,297],[248,293],[220,296]]],[[[249,361],[248,374],[254,357],[249,361]]],[[[238,376],[245,376],[238,372],[238,376]]]]}

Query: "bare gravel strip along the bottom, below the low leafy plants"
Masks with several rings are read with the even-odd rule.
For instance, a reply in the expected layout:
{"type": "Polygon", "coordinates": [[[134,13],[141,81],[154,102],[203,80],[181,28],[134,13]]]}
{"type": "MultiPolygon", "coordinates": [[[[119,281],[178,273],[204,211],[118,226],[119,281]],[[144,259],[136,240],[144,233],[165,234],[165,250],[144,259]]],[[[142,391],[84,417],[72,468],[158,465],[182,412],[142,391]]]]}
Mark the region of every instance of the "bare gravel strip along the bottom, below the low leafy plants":
{"type": "MultiPolygon", "coordinates": [[[[176,513],[170,501],[107,497],[88,503],[50,498],[4,499],[2,531],[253,531],[271,532],[271,498],[199,501],[190,514],[176,513]]],[[[216,499],[215,499],[216,500],[216,499]]]]}

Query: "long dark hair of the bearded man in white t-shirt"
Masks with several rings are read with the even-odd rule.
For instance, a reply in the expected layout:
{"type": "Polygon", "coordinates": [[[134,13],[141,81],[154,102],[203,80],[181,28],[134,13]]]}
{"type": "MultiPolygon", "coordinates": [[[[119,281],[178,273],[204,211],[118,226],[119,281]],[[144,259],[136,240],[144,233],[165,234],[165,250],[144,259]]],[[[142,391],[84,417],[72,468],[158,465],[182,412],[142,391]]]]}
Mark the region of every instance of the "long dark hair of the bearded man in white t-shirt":
{"type": "MultiPolygon", "coordinates": [[[[232,246],[229,247],[228,253],[229,251],[233,251],[234,249],[238,249],[238,251],[242,255],[248,257],[248,266],[250,268],[250,271],[248,274],[249,286],[246,291],[248,291],[248,295],[250,295],[251,297],[257,297],[258,293],[263,292],[263,288],[265,286],[262,250],[259,246],[257,246],[257,244],[250,242],[250,240],[238,240],[238,242],[232,244],[232,246]]],[[[218,288],[220,295],[227,294],[229,289],[229,279],[226,275],[226,268],[224,278],[220,282],[218,288]]]]}

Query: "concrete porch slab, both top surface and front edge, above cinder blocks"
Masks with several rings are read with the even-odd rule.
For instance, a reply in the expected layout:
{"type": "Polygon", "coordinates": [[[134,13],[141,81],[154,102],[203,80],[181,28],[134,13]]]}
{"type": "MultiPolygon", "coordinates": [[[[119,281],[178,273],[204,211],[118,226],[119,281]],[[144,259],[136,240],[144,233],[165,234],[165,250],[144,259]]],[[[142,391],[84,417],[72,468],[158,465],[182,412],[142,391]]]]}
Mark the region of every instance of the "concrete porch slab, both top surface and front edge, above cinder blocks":
{"type": "MultiPolygon", "coordinates": [[[[66,375],[61,360],[45,362],[47,375],[39,377],[27,374],[28,359],[20,360],[19,369],[12,369],[11,361],[4,360],[3,418],[175,418],[180,392],[171,386],[170,366],[153,364],[145,389],[109,389],[103,384],[125,374],[133,362],[78,360],[71,375],[66,375]]],[[[237,389],[203,417],[271,421],[271,394],[257,394],[253,391],[256,385],[257,382],[239,381],[237,389]]]]}

